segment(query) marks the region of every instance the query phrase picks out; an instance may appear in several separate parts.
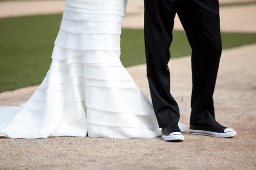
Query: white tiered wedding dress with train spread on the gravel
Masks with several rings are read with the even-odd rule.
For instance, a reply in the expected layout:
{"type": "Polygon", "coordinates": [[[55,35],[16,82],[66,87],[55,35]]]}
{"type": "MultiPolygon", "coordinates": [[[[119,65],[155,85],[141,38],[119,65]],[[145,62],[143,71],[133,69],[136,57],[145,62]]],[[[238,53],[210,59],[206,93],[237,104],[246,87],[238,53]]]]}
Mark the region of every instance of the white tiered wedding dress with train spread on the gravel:
{"type": "Polygon", "coordinates": [[[161,135],[152,103],[119,59],[126,3],[66,0],[50,69],[26,104],[0,107],[0,136],[161,135]]]}

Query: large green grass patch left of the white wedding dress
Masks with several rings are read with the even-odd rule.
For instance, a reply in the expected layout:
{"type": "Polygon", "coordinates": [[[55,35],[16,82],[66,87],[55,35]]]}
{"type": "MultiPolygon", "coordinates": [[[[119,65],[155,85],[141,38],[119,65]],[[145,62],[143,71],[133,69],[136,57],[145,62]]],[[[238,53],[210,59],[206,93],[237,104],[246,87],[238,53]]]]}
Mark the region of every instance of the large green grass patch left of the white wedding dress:
{"type": "Polygon", "coordinates": [[[0,92],[44,79],[60,20],[61,15],[0,19],[0,92]]]}

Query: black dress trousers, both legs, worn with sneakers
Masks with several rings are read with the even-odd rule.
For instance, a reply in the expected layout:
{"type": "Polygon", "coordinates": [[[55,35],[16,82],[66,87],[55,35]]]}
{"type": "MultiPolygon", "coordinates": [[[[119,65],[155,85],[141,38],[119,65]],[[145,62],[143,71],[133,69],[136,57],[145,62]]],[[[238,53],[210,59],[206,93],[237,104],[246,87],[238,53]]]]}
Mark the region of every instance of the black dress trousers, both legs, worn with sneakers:
{"type": "Polygon", "coordinates": [[[190,125],[215,122],[212,95],[222,50],[218,0],[144,0],[144,6],[147,78],[159,127],[177,124],[180,117],[167,66],[176,13],[192,48],[190,125]]]}

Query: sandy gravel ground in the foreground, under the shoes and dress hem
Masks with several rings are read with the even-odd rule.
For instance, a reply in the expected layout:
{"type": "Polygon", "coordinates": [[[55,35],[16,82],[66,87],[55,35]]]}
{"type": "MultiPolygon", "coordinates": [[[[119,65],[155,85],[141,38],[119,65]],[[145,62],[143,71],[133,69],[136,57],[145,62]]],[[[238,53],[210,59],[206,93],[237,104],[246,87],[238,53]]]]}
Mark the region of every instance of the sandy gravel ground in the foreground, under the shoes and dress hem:
{"type": "MultiPolygon", "coordinates": [[[[127,67],[149,96],[145,64],[127,67]],[[141,74],[138,74],[140,72],[141,74]]],[[[172,59],[171,91],[189,124],[190,57],[172,59]]],[[[0,169],[255,169],[256,44],[223,51],[216,85],[217,120],[237,130],[233,138],[184,133],[185,141],[51,137],[0,138],[0,169]]],[[[0,94],[0,105],[26,102],[36,86],[0,94]],[[4,102],[3,102],[4,101],[4,102]]]]}

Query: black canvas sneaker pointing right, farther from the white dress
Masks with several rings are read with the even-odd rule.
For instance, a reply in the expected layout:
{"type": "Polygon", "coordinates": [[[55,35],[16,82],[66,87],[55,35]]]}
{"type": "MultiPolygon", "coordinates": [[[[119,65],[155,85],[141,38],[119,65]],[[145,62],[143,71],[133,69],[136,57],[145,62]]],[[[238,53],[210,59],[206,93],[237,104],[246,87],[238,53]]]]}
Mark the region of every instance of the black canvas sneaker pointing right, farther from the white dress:
{"type": "Polygon", "coordinates": [[[208,135],[214,137],[232,137],[237,135],[237,132],[235,130],[231,128],[226,128],[220,125],[218,122],[212,122],[204,126],[190,125],[189,133],[196,135],[208,135]]]}

